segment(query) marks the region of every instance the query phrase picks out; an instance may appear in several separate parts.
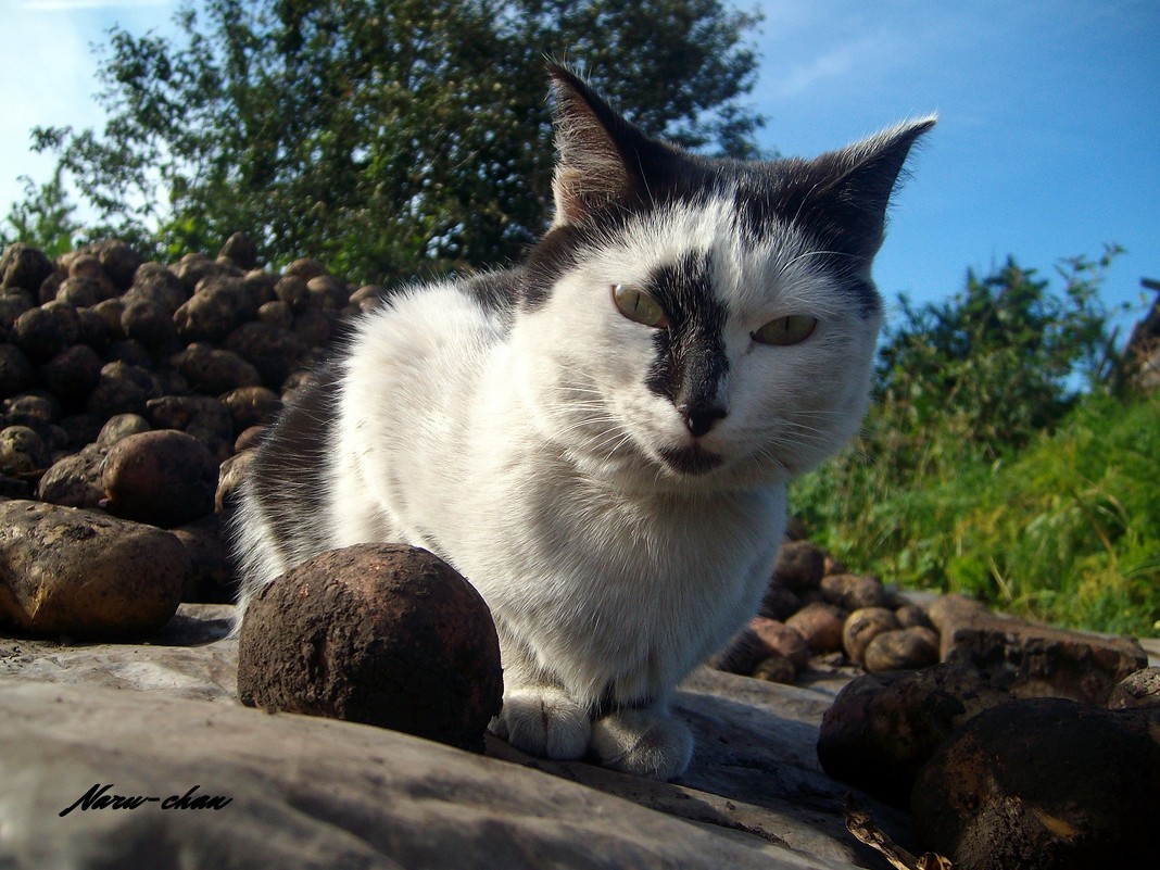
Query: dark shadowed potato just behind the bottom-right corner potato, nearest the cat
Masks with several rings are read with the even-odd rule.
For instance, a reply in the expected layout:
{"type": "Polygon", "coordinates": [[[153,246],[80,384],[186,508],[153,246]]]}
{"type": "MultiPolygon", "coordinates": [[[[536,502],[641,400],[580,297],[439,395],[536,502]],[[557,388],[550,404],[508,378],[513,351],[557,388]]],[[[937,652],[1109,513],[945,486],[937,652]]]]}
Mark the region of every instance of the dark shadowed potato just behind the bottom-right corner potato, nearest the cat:
{"type": "Polygon", "coordinates": [[[818,760],[831,776],[906,806],[919,770],[971,717],[1010,701],[969,668],[856,677],[826,711],[818,760]]]}

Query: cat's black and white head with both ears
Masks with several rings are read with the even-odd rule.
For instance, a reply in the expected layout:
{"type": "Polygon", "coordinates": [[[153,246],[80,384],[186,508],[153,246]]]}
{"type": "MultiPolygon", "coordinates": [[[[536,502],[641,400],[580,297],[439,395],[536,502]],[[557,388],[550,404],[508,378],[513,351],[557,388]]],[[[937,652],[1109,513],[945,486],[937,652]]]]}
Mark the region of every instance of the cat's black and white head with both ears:
{"type": "Polygon", "coordinates": [[[886,206],[934,118],[814,160],[712,160],[551,75],[556,218],[515,331],[542,432],[660,488],[784,480],[841,447],[867,408],[886,206]]]}

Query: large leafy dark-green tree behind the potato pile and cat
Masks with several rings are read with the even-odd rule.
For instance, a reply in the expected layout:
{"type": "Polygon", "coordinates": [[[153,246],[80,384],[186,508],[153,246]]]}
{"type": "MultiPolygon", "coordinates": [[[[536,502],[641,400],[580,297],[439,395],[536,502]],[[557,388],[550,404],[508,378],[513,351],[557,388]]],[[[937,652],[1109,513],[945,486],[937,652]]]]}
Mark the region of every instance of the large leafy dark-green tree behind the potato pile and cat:
{"type": "Polygon", "coordinates": [[[245,230],[363,280],[473,268],[545,225],[545,53],[653,132],[753,157],[755,22],[718,0],[205,0],[182,44],[114,28],[103,135],[34,138],[103,232],[171,253],[245,230]]]}

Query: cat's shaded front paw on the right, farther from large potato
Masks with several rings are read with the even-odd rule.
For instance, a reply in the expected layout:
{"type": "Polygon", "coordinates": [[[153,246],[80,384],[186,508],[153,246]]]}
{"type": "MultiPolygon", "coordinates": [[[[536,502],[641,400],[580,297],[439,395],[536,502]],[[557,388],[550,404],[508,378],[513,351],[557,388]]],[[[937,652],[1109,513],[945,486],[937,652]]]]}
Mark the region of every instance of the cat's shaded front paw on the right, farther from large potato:
{"type": "Polygon", "coordinates": [[[593,723],[592,749],[604,767],[666,781],[688,769],[693,732],[667,713],[618,710],[593,723]]]}

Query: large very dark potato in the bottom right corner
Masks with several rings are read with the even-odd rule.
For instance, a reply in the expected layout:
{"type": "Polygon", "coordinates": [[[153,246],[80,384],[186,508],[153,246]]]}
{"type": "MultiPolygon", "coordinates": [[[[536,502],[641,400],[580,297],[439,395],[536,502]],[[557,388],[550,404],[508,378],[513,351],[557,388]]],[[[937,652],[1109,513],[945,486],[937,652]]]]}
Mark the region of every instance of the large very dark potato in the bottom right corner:
{"type": "Polygon", "coordinates": [[[912,813],[958,870],[1144,867],[1158,783],[1160,708],[1032,698],[955,734],[920,774],[912,813]]]}

